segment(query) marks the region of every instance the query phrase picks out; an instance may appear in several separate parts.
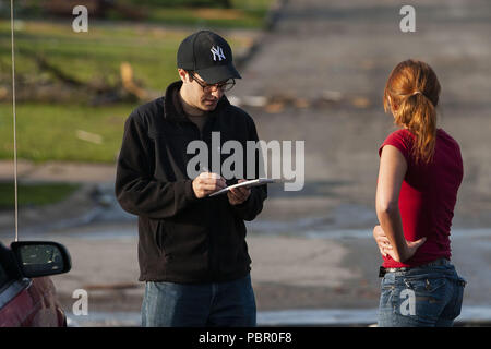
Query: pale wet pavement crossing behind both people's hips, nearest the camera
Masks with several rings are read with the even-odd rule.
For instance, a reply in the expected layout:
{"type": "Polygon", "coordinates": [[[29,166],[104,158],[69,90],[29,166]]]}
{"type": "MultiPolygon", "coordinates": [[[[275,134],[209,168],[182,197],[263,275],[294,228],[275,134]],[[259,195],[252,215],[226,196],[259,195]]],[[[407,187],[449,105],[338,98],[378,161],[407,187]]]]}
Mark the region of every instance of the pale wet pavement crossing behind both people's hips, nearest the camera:
{"type": "MultiPolygon", "coordinates": [[[[252,282],[262,325],[359,325],[376,322],[380,258],[369,230],[271,233],[249,229],[252,282]]],[[[38,233],[26,233],[24,240],[38,233]]],[[[53,276],[75,326],[136,326],[144,285],[137,282],[136,225],[97,224],[45,232],[72,255],[53,276]],[[73,291],[88,293],[88,315],[75,316],[73,291]]],[[[3,240],[3,239],[0,239],[3,240]]],[[[491,229],[456,229],[453,263],[468,285],[460,324],[491,322],[491,229]],[[480,265],[480,267],[476,267],[480,265]]]]}

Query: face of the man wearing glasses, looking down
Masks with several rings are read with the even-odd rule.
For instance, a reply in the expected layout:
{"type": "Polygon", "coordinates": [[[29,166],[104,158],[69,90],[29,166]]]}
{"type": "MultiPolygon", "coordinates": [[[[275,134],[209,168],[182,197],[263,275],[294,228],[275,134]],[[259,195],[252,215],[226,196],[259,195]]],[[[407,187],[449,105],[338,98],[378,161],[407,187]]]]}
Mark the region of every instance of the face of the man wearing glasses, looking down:
{"type": "Polygon", "coordinates": [[[203,111],[215,110],[224,92],[220,88],[216,88],[216,86],[203,88],[202,85],[206,86],[207,84],[197,73],[190,75],[187,72],[185,75],[187,76],[182,79],[182,87],[185,88],[185,95],[188,97],[185,101],[192,107],[203,111]],[[195,79],[193,76],[195,76],[195,79]]]}

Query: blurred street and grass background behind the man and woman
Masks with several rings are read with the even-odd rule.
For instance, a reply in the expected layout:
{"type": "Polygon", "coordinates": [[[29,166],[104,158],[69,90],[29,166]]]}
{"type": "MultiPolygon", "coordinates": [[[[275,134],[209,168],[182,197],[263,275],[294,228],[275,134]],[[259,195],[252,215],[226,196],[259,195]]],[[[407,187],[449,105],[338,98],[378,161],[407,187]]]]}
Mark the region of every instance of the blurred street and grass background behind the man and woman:
{"type": "MultiPolygon", "coordinates": [[[[306,185],[270,185],[248,224],[260,325],[370,325],[379,302],[378,148],[394,130],[382,94],[402,60],[442,85],[440,127],[465,178],[452,231],[467,279],[464,325],[491,322],[491,3],[395,0],[14,1],[20,239],[55,240],[73,268],[52,277],[77,326],[139,325],[136,217],[113,195],[125,118],[178,80],[189,34],[227,38],[242,75],[227,96],[262,140],[306,141],[306,185]],[[399,10],[416,10],[403,33],[399,10]],[[76,33],[73,8],[88,10],[76,33]],[[75,316],[76,289],[88,315],[75,316]]],[[[14,239],[10,1],[0,1],[0,241],[14,239]]]]}

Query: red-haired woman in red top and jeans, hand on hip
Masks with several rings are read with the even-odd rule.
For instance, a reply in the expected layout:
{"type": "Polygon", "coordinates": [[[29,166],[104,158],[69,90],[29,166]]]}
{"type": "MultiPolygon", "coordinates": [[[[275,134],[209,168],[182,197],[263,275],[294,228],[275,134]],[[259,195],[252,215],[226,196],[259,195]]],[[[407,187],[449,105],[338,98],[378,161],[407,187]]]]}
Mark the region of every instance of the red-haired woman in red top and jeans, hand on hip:
{"type": "Polygon", "coordinates": [[[379,326],[452,326],[460,314],[450,231],[464,170],[457,142],[436,128],[439,96],[435,73],[417,60],[397,64],[385,86],[384,109],[400,129],[379,149],[379,326]]]}

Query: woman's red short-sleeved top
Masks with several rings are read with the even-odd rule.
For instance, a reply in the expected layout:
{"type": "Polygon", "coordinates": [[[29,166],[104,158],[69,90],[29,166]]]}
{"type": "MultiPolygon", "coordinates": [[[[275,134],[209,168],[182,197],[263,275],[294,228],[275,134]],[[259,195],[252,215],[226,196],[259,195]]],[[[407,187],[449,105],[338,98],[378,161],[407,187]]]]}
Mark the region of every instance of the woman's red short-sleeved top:
{"type": "Polygon", "coordinates": [[[428,164],[415,163],[412,156],[415,135],[408,130],[393,132],[379,148],[393,145],[404,155],[407,172],[399,194],[399,212],[404,236],[408,241],[427,237],[427,241],[415,255],[398,263],[384,257],[383,266],[412,267],[442,257],[451,258],[450,231],[457,191],[464,176],[464,167],[458,143],[442,129],[436,130],[433,160],[428,164]]]}

